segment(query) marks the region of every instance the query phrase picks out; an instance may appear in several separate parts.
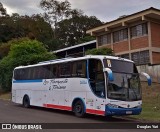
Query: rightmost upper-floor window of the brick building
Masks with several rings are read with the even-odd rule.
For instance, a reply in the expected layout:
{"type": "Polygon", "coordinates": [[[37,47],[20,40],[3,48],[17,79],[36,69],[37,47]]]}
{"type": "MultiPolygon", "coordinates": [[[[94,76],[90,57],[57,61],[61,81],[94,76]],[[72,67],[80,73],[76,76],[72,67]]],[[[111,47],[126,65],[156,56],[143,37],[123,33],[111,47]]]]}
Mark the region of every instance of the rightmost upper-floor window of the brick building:
{"type": "Polygon", "coordinates": [[[147,23],[131,27],[131,38],[148,34],[147,23]]]}

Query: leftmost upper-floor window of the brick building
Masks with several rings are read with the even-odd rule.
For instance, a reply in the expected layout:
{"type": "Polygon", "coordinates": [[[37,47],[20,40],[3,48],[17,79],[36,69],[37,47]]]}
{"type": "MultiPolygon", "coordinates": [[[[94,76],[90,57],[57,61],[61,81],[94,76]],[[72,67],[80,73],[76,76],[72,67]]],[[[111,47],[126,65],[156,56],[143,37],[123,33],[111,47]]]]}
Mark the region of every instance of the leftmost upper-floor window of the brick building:
{"type": "Polygon", "coordinates": [[[98,36],[98,45],[110,44],[111,43],[111,34],[105,34],[98,36]]]}

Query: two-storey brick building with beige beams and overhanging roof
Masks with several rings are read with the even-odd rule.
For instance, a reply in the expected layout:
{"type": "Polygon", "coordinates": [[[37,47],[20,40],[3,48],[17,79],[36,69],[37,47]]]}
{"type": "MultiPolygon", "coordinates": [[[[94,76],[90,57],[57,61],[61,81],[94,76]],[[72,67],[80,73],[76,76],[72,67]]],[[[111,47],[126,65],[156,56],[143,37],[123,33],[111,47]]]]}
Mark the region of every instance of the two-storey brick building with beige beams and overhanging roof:
{"type": "Polygon", "coordinates": [[[97,48],[111,48],[115,55],[133,60],[139,71],[160,82],[160,10],[153,7],[123,15],[87,33],[96,36],[97,48]]]}

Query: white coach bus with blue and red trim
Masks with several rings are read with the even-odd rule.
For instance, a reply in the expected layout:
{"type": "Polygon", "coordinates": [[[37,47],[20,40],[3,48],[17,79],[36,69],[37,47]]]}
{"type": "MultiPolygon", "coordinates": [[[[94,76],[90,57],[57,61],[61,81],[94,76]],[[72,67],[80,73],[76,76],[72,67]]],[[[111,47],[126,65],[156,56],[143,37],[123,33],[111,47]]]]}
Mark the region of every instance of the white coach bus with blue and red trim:
{"type": "Polygon", "coordinates": [[[38,106],[114,116],[142,111],[140,76],[133,61],[113,56],[87,55],[19,66],[13,71],[12,101],[38,106]]]}

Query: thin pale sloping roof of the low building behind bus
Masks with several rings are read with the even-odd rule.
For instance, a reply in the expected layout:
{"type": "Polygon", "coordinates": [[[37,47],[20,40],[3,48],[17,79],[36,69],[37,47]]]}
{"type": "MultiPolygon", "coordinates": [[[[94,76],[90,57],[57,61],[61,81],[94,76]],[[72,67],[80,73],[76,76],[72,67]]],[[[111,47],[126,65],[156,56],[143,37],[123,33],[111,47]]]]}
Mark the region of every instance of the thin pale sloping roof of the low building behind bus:
{"type": "Polygon", "coordinates": [[[92,41],[89,41],[89,42],[86,42],[86,43],[82,43],[82,44],[77,44],[77,45],[74,45],[74,46],[71,46],[71,47],[67,47],[67,48],[64,48],[64,49],[59,49],[59,50],[53,51],[53,53],[67,51],[69,49],[74,49],[74,48],[77,48],[77,47],[82,47],[82,46],[90,45],[90,44],[93,44],[93,43],[96,43],[96,40],[92,40],[92,41]]]}

